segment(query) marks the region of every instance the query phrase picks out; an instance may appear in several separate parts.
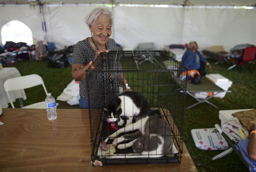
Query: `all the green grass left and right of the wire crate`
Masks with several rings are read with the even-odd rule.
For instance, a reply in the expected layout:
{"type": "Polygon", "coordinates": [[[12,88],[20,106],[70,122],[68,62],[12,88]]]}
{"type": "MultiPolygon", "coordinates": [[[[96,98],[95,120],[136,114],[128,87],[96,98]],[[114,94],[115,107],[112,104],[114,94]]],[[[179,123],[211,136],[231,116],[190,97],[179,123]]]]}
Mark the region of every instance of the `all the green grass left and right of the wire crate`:
{"type": "MultiPolygon", "coordinates": [[[[208,74],[221,74],[233,82],[229,88],[231,93],[227,93],[224,98],[211,98],[209,101],[219,107],[202,103],[190,109],[185,109],[185,120],[183,127],[183,140],[188,148],[188,151],[194,161],[198,171],[212,172],[212,171],[248,171],[248,168],[239,159],[235,152],[227,156],[212,161],[211,158],[222,151],[205,151],[196,148],[191,136],[191,129],[199,128],[214,128],[214,124],[220,124],[219,111],[229,109],[248,109],[255,108],[256,105],[256,80],[254,78],[256,69],[253,73],[249,70],[241,71],[239,66],[227,70],[231,64],[218,64],[214,65],[214,60],[208,59],[212,65],[212,71],[208,74]]],[[[42,62],[29,62],[28,60],[19,61],[15,66],[21,75],[39,74],[42,76],[48,92],[57,98],[73,80],[71,75],[71,66],[66,68],[48,68],[48,61],[42,62]]],[[[43,88],[37,86],[34,90],[25,90],[28,100],[24,101],[24,105],[29,105],[36,101],[38,97],[45,97],[43,88]],[[29,92],[28,92],[29,91],[29,92]],[[32,101],[30,101],[32,100],[32,101]]],[[[188,107],[197,101],[191,96],[186,96],[185,107],[188,107]]],[[[19,102],[15,102],[15,106],[19,107],[19,102]]],[[[11,106],[9,106],[11,107],[11,106]]],[[[184,155],[183,155],[184,156],[184,155]]],[[[181,158],[182,160],[182,158],[181,158]]]]}

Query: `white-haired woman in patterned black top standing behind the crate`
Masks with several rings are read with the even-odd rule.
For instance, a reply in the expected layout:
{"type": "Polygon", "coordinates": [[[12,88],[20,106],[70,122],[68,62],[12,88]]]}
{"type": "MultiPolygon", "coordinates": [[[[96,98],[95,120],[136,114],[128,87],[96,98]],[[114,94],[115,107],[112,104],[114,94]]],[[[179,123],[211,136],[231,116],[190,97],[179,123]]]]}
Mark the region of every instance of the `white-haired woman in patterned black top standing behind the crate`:
{"type": "Polygon", "coordinates": [[[107,68],[107,70],[120,71],[111,74],[111,76],[120,79],[125,91],[131,91],[131,89],[128,86],[128,88],[125,87],[127,81],[121,72],[122,66],[118,61],[115,64],[111,60],[108,63],[100,63],[99,58],[97,58],[97,56],[100,56],[100,53],[117,51],[114,39],[109,38],[112,27],[112,13],[106,8],[95,8],[86,16],[85,23],[89,27],[92,37],[76,43],[72,58],[72,76],[75,81],[80,81],[80,108],[88,108],[89,106],[87,91],[89,91],[90,95],[90,107],[102,107],[108,101],[105,95],[118,93],[120,82],[116,80],[118,81],[118,83],[115,83],[117,86],[114,89],[111,88],[108,83],[109,76],[107,75],[109,74],[100,74],[103,69],[102,66],[100,67],[101,64],[105,64],[105,70],[107,68]],[[100,72],[91,72],[89,75],[85,74],[88,69],[100,72]],[[87,88],[87,84],[89,88],[87,88]]]}

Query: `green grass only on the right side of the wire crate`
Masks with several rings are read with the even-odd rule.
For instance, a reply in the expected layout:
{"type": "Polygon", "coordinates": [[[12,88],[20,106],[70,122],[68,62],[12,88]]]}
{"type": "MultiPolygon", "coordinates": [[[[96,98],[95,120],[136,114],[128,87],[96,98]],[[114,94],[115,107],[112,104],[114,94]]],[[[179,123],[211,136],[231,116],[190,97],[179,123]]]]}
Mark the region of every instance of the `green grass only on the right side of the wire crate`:
{"type": "MultiPolygon", "coordinates": [[[[249,171],[244,163],[239,159],[235,152],[232,152],[221,159],[212,161],[211,158],[222,151],[205,151],[197,149],[191,136],[191,129],[214,128],[214,124],[220,125],[219,111],[230,109],[249,109],[256,105],[256,80],[253,73],[249,70],[241,71],[240,66],[227,70],[231,64],[214,65],[214,60],[207,59],[212,65],[212,71],[208,74],[221,74],[233,82],[229,88],[231,93],[227,93],[224,98],[211,98],[210,102],[219,107],[202,103],[185,110],[183,140],[196,165],[198,171],[249,171]]],[[[197,101],[191,96],[186,96],[186,107],[197,101]]],[[[181,159],[182,160],[182,159],[181,159]]]]}

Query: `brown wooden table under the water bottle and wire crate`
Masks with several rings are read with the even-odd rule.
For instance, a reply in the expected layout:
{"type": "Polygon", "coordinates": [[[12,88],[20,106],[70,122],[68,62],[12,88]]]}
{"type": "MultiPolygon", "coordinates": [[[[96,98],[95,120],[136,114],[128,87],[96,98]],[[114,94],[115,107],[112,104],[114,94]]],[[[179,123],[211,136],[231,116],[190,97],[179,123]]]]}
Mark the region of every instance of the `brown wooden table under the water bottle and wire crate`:
{"type": "Polygon", "coordinates": [[[0,171],[197,171],[184,144],[181,163],[92,166],[88,110],[57,114],[49,121],[45,109],[3,108],[0,171]]]}

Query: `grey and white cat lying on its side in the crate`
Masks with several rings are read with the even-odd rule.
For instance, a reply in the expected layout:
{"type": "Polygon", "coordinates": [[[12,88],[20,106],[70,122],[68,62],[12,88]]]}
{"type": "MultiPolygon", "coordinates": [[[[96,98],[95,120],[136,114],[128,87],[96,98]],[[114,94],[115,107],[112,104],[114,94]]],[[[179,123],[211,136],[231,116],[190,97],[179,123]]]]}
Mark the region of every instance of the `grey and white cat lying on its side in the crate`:
{"type": "Polygon", "coordinates": [[[125,140],[133,140],[117,145],[118,149],[132,147],[135,153],[117,154],[113,158],[157,158],[172,150],[171,126],[162,118],[146,117],[117,130],[108,138],[114,139],[112,145],[116,146],[125,140]],[[116,138],[124,132],[137,130],[132,134],[116,138]]]}

